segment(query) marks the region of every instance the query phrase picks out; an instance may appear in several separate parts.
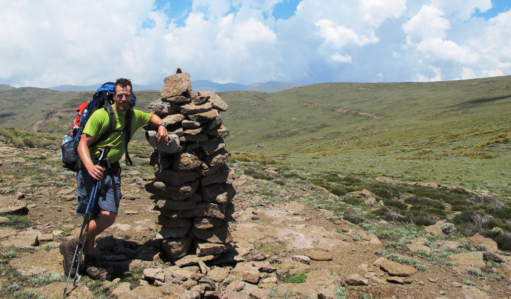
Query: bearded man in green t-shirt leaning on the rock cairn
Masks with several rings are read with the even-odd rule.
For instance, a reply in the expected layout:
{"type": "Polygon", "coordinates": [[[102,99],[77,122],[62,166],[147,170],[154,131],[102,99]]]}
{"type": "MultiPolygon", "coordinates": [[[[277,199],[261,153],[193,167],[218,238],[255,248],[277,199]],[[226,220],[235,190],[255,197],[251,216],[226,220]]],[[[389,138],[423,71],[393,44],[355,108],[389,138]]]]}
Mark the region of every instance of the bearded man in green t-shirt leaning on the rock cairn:
{"type": "MultiPolygon", "coordinates": [[[[91,220],[89,222],[87,240],[85,240],[84,267],[85,272],[91,279],[97,279],[103,274],[106,274],[106,270],[99,265],[94,256],[94,243],[96,236],[111,226],[115,222],[115,217],[118,214],[119,201],[122,196],[119,160],[124,154],[126,147],[124,145],[125,132],[117,129],[124,129],[125,127],[126,113],[131,108],[131,98],[131,81],[124,78],[118,79],[113,85],[113,109],[115,111],[115,118],[117,119],[117,126],[115,127],[116,131],[112,132],[105,140],[100,141],[95,146],[92,146],[95,139],[99,138],[99,136],[101,136],[108,127],[107,111],[105,109],[98,109],[92,113],[87,121],[80,143],[78,144],[78,154],[81,159],[82,167],[77,175],[77,215],[85,216],[87,202],[97,180],[103,179],[104,177],[104,186],[106,189],[102,190],[102,192],[98,192],[99,196],[97,204],[94,208],[89,210],[91,211],[91,220]],[[110,169],[104,169],[99,165],[95,165],[93,162],[94,159],[98,159],[100,156],[98,148],[105,148],[107,145],[113,145],[107,155],[111,164],[110,169]],[[114,180],[113,182],[112,179],[114,180]]],[[[149,114],[133,109],[130,131],[131,136],[133,136],[133,133],[138,128],[147,125],[148,123],[158,127],[158,145],[166,145],[169,138],[167,129],[165,124],[156,114],[149,114]]],[[[103,185],[103,183],[100,185],[103,185]]],[[[81,243],[83,242],[85,227],[83,229],[84,231],[82,232],[81,240],[78,240],[77,237],[60,243],[59,247],[61,254],[64,256],[63,267],[66,275],[68,275],[69,270],[72,271],[72,275],[76,271],[75,268],[70,268],[76,246],[77,244],[81,246],[81,243]]]]}

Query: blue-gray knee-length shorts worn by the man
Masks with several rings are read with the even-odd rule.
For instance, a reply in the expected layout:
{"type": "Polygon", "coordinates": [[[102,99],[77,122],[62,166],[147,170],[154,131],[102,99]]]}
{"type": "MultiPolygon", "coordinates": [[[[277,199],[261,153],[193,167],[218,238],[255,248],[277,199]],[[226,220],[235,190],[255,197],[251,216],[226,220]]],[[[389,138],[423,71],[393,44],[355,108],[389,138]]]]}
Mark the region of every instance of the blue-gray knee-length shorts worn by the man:
{"type": "MultiPolygon", "coordinates": [[[[115,187],[117,187],[117,200],[113,196],[113,187],[112,187],[112,179],[109,172],[105,172],[105,188],[106,194],[102,195],[100,192],[101,183],[98,184],[98,192],[96,204],[94,207],[89,209],[91,213],[91,218],[95,218],[99,215],[100,209],[115,213],[119,210],[119,202],[122,197],[121,194],[121,176],[119,174],[113,174],[113,179],[115,181],[115,187]]],[[[81,169],[77,175],[78,181],[78,189],[75,193],[78,196],[78,206],[76,207],[76,215],[85,216],[85,212],[87,211],[87,204],[89,202],[90,194],[92,193],[92,188],[96,185],[97,180],[92,179],[89,173],[85,169],[81,169]]]]}

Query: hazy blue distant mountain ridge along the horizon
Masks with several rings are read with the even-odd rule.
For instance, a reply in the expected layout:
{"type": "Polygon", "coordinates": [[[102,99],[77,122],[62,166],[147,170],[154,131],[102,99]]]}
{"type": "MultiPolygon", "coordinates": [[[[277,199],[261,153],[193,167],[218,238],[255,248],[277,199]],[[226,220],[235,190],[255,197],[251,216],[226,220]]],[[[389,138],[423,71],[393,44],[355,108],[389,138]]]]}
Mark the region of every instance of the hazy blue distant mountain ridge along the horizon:
{"type": "MultiPolygon", "coordinates": [[[[3,85],[0,84],[0,92],[3,90],[3,85]]],[[[163,83],[161,84],[150,84],[150,85],[137,85],[133,84],[133,90],[160,90],[163,87],[163,83]]],[[[9,86],[9,85],[6,85],[9,86]]],[[[101,84],[94,85],[59,85],[54,87],[48,87],[48,89],[58,90],[58,91],[95,91],[100,87],[101,84]]],[[[195,91],[213,91],[216,93],[217,91],[231,91],[231,90],[252,90],[252,91],[261,91],[262,93],[275,93],[276,91],[281,91],[293,87],[303,86],[303,84],[299,83],[290,83],[290,82],[277,82],[277,81],[268,81],[266,83],[252,83],[252,84],[238,84],[238,83],[216,83],[209,80],[196,80],[192,81],[192,88],[195,91]]],[[[9,86],[12,87],[12,86],[9,86]]],[[[12,87],[15,88],[15,87],[12,87]]],[[[12,89],[11,88],[11,89],[12,89]]],[[[9,89],[5,89],[9,90],[9,89]]],[[[4,90],[4,91],[5,91],[4,90]]]]}

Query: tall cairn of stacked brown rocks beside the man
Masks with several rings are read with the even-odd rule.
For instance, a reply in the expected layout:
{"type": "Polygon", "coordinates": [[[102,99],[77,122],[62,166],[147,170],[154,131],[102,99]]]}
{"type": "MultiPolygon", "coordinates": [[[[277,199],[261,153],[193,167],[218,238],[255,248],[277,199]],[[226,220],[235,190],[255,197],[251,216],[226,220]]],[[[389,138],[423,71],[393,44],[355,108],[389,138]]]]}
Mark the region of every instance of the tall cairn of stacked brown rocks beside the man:
{"type": "Polygon", "coordinates": [[[194,93],[188,73],[164,82],[161,99],[148,108],[167,124],[169,134],[179,136],[179,147],[176,153],[154,150],[155,180],[145,187],[160,212],[157,223],[167,257],[192,264],[211,261],[228,251],[227,221],[234,212],[231,200],[236,193],[234,171],[226,165],[230,153],[223,141],[229,131],[219,115],[227,104],[215,93],[194,93]]]}

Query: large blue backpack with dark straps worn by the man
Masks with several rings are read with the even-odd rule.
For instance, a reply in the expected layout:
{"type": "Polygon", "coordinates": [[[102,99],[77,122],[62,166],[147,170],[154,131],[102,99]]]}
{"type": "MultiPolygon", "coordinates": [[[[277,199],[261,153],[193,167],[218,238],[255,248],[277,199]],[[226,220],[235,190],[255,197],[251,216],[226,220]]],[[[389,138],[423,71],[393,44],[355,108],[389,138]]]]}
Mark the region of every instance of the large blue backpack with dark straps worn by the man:
{"type": "MultiPolygon", "coordinates": [[[[117,119],[115,118],[115,111],[112,107],[114,102],[113,85],[113,82],[107,82],[103,84],[96,90],[92,100],[82,103],[76,109],[77,116],[73,122],[71,134],[64,135],[64,140],[62,141],[62,146],[60,147],[62,150],[60,158],[62,159],[64,168],[74,172],[78,172],[80,170],[80,156],[78,155],[78,144],[80,143],[80,137],[82,136],[83,129],[85,128],[89,117],[92,115],[92,113],[94,113],[94,111],[101,108],[104,108],[108,112],[108,127],[103,134],[94,140],[94,143],[92,143],[91,147],[107,139],[107,137],[113,132],[124,131],[126,165],[128,165],[128,163],[130,165],[133,164],[128,154],[128,143],[131,137],[131,119],[133,118],[133,110],[129,109],[126,113],[126,124],[124,129],[116,130],[115,125],[117,124],[117,119]]],[[[135,101],[136,96],[133,93],[133,97],[131,98],[132,108],[135,106],[135,101]]]]}

